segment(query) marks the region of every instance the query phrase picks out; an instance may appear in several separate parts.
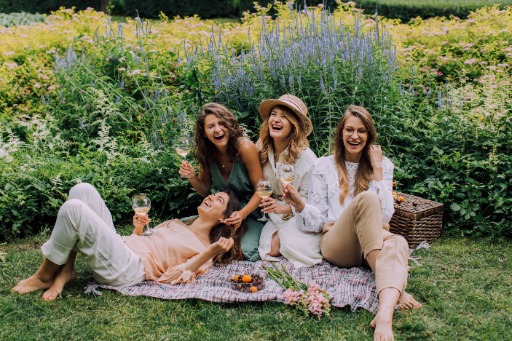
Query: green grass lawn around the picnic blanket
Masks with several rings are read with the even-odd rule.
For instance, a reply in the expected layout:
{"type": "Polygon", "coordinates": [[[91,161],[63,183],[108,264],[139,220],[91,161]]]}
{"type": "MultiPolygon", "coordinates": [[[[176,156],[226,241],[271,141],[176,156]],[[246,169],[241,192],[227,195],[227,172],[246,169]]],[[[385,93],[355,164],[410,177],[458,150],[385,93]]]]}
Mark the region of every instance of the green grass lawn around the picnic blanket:
{"type": "MultiPolygon", "coordinates": [[[[163,301],[103,291],[83,293],[92,279],[80,260],[79,279],[62,299],[10,289],[32,274],[46,237],[0,245],[0,340],[371,340],[372,314],[334,309],[317,321],[284,304],[163,301]]],[[[408,291],[423,308],[396,313],[398,340],[512,339],[512,242],[444,237],[414,254],[408,291]]]]}

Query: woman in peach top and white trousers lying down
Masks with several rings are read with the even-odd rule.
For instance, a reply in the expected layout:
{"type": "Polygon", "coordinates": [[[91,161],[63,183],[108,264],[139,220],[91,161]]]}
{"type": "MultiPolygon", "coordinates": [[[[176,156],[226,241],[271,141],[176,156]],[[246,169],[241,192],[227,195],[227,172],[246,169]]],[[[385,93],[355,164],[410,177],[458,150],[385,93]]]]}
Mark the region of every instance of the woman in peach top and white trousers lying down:
{"type": "Polygon", "coordinates": [[[131,236],[115,231],[112,216],[96,189],[87,183],[74,186],[62,205],[50,239],[42,246],[43,263],[31,277],[12,290],[20,294],[47,289],[43,299],[54,300],[76,278],[77,251],[85,256],[97,282],[117,287],[146,281],[189,283],[213,261],[241,257],[241,229],[224,219],[239,209],[232,192],[206,197],[197,208],[199,217],[187,226],[166,221],[151,236],[141,236],[147,215],[133,217],[131,236]]]}

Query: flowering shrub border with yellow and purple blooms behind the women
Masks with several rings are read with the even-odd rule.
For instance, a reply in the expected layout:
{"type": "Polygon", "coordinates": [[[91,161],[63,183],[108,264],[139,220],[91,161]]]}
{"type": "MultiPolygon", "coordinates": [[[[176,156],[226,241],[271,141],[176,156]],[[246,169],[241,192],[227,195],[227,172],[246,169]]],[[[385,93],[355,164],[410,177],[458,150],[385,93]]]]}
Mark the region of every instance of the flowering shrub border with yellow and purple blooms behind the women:
{"type": "Polygon", "coordinates": [[[347,4],[275,8],[275,20],[256,7],[239,25],[116,25],[61,10],[31,30],[3,29],[0,238],[51,224],[77,179],[98,187],[116,222],[128,222],[139,191],[154,217],[191,213],[199,197],[179,178],[174,137],[211,100],[255,137],[259,101],[285,92],[309,105],[317,154],[329,153],[345,106],[365,105],[398,190],[443,202],[450,231],[511,235],[510,9],[405,25],[347,4]]]}

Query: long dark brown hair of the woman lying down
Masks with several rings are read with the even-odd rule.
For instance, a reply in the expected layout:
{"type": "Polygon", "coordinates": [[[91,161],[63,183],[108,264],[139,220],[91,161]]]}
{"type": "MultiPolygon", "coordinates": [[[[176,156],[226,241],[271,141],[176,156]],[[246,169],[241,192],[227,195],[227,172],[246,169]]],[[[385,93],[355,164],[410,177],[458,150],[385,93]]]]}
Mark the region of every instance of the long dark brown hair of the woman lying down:
{"type": "MultiPolygon", "coordinates": [[[[226,211],[224,212],[225,217],[231,216],[231,213],[240,210],[240,202],[236,197],[235,193],[231,190],[224,191],[229,196],[228,205],[226,207],[226,211]]],[[[234,260],[241,260],[244,258],[242,253],[242,244],[240,240],[242,239],[242,235],[245,231],[245,225],[242,222],[239,228],[235,228],[231,225],[226,225],[223,223],[219,223],[210,231],[210,242],[215,243],[220,237],[224,238],[233,238],[235,243],[233,247],[229,249],[228,252],[218,255],[213,259],[214,262],[220,264],[226,264],[232,262],[234,260]]]]}

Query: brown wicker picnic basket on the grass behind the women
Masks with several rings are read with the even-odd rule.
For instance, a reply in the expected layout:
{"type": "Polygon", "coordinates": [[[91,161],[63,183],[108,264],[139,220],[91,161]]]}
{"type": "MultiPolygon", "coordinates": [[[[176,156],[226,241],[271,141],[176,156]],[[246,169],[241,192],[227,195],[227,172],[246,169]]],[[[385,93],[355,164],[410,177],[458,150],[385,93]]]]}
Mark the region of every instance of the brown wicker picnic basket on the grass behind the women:
{"type": "Polygon", "coordinates": [[[443,204],[414,195],[397,193],[404,201],[395,202],[390,231],[405,237],[409,247],[439,238],[443,226],[443,204]]]}

